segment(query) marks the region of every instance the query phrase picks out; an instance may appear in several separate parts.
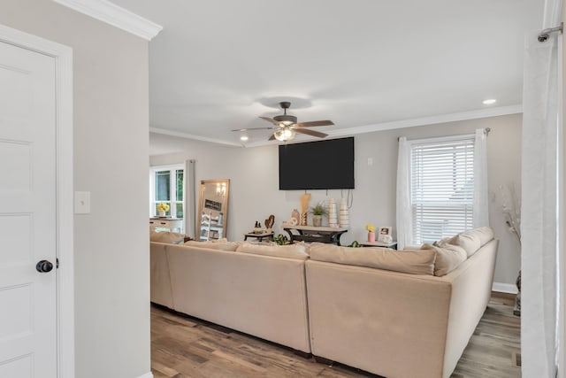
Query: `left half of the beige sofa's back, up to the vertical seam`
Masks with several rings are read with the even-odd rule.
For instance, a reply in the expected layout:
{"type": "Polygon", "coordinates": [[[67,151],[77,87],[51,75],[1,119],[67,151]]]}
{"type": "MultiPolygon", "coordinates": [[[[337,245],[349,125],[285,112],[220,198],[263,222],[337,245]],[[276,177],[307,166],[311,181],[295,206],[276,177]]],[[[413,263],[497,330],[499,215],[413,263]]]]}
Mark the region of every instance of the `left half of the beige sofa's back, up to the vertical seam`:
{"type": "Polygon", "coordinates": [[[289,257],[207,247],[152,242],[151,301],[310,353],[304,247],[289,257]]]}

